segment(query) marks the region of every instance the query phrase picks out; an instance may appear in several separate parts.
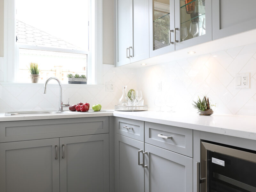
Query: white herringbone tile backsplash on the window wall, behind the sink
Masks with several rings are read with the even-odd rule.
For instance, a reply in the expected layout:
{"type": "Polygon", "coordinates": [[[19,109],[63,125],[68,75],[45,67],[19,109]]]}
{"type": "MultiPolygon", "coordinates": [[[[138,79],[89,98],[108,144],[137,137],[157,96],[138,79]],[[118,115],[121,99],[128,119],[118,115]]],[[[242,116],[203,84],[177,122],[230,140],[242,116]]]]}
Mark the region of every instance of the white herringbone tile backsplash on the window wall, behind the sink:
{"type": "MultiPolygon", "coordinates": [[[[101,104],[103,109],[113,109],[122,94],[122,85],[136,89],[135,71],[103,65],[104,85],[63,84],[63,102],[101,104]],[[105,82],[114,82],[115,91],[107,92],[105,82]]],[[[43,94],[43,84],[0,84],[0,112],[58,110],[59,86],[49,84],[43,94]]],[[[68,108],[64,108],[68,110],[68,108]]]]}

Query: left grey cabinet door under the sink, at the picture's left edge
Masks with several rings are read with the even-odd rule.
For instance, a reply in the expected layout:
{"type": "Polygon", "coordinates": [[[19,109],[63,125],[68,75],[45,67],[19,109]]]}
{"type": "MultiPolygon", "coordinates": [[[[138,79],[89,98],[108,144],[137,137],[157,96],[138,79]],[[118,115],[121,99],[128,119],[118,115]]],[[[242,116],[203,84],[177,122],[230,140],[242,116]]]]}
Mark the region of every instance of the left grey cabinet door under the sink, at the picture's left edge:
{"type": "Polygon", "coordinates": [[[59,192],[59,138],[0,143],[1,192],[59,192]]]}

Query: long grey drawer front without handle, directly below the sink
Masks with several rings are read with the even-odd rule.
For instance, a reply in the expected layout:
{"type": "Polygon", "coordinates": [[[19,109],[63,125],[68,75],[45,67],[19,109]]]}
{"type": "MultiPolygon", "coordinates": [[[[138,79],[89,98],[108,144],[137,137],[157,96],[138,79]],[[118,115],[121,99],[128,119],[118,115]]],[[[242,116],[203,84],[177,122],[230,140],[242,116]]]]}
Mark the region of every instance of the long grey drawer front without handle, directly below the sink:
{"type": "Polygon", "coordinates": [[[109,132],[109,117],[0,122],[0,143],[109,132]]]}

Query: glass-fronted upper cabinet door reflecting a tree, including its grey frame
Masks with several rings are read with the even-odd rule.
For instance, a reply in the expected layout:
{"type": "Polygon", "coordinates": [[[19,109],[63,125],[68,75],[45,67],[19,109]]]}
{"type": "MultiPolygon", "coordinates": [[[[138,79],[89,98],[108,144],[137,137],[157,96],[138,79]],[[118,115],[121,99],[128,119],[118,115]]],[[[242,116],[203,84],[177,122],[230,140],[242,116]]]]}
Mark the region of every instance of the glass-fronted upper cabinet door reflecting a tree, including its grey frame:
{"type": "Polygon", "coordinates": [[[175,50],[174,0],[149,0],[149,56],[175,50]]]}

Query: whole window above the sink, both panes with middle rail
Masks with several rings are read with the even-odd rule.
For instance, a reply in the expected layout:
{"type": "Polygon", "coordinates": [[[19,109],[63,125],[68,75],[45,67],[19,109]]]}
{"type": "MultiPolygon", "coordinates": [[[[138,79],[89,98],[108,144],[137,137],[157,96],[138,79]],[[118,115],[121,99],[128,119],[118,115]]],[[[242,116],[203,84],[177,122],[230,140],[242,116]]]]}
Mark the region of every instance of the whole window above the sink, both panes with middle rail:
{"type": "Polygon", "coordinates": [[[86,75],[89,50],[89,0],[16,0],[16,82],[30,82],[28,66],[37,63],[40,80],[86,75]]]}

